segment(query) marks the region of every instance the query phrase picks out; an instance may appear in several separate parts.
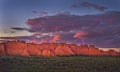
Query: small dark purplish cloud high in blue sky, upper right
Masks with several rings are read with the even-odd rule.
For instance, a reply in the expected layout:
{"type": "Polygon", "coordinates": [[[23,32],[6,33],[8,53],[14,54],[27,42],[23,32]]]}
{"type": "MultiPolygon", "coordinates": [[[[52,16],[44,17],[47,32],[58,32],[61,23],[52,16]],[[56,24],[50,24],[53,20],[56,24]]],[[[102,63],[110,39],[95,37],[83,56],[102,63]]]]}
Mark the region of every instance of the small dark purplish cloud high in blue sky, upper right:
{"type": "Polygon", "coordinates": [[[105,11],[106,9],[108,9],[107,7],[100,6],[100,5],[93,4],[93,3],[89,3],[89,2],[81,2],[78,4],[73,4],[72,8],[79,8],[81,6],[87,7],[87,8],[94,8],[94,9],[99,10],[99,11],[105,11]]]}

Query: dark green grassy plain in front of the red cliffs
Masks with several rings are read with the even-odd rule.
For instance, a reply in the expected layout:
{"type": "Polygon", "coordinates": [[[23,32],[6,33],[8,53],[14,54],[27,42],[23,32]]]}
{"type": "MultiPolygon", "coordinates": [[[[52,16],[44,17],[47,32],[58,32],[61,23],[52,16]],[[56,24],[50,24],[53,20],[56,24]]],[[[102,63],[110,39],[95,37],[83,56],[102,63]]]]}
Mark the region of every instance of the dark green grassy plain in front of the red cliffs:
{"type": "Polygon", "coordinates": [[[120,57],[0,56],[0,72],[120,72],[120,57]]]}

